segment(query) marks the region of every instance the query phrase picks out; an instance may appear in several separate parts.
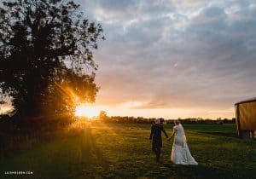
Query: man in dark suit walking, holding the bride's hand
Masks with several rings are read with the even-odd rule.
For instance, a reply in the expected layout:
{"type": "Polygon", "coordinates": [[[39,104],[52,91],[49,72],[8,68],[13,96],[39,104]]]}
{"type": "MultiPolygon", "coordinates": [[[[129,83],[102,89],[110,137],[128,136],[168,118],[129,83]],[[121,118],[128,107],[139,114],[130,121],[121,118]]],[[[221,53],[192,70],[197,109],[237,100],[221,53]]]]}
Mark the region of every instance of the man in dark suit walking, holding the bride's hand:
{"type": "Polygon", "coordinates": [[[151,133],[149,140],[152,142],[152,150],[155,153],[155,159],[156,162],[160,162],[160,153],[161,153],[161,147],[162,147],[162,131],[166,135],[166,138],[168,138],[168,135],[166,134],[166,130],[163,126],[163,118],[157,118],[154,121],[154,124],[152,124],[151,127],[151,133]],[[152,140],[153,139],[153,140],[152,140]]]}

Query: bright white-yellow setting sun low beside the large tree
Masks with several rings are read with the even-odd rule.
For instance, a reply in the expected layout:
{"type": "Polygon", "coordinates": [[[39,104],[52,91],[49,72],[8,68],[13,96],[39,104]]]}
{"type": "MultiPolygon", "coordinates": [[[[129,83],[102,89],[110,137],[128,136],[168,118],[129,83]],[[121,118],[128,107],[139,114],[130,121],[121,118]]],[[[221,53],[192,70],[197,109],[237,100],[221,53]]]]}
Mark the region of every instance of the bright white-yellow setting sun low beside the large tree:
{"type": "Polygon", "coordinates": [[[97,110],[95,107],[90,107],[83,104],[76,107],[75,115],[78,117],[92,118],[99,115],[99,110],[97,110]]]}

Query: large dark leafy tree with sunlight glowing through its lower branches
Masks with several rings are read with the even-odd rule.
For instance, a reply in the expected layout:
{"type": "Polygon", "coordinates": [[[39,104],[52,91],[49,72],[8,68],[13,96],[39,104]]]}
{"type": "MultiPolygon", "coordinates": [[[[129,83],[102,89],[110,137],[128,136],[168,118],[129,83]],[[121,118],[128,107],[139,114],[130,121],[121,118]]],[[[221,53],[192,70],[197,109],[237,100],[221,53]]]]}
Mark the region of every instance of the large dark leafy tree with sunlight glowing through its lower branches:
{"type": "Polygon", "coordinates": [[[102,26],[66,0],[15,0],[0,5],[0,87],[16,113],[37,115],[94,101],[92,50],[102,26]],[[43,109],[43,110],[42,110],[43,109]]]}

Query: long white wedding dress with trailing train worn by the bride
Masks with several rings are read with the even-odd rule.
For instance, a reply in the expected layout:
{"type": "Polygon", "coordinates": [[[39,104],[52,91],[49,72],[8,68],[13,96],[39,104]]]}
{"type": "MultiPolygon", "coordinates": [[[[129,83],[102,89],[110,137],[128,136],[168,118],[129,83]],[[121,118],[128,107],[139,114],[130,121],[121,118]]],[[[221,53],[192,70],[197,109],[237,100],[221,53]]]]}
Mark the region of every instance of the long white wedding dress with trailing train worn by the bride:
{"type": "Polygon", "coordinates": [[[175,131],[175,136],[172,145],[172,162],[177,165],[198,165],[189,152],[183,126],[181,124],[175,125],[173,131],[175,131]]]}

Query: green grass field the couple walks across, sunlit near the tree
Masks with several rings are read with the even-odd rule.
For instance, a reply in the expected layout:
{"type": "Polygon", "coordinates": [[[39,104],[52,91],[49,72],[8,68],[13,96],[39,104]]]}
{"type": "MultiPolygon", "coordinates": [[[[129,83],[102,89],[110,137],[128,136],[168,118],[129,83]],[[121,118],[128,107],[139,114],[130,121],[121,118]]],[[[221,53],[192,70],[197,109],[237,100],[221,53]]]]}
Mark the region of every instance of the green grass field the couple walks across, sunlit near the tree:
{"type": "MultiPolygon", "coordinates": [[[[165,125],[171,135],[172,124],[165,125]]],[[[78,122],[63,136],[0,162],[0,178],[256,178],[256,141],[235,137],[233,124],[184,125],[198,166],[173,165],[172,141],[163,136],[161,163],[154,162],[150,124],[78,122]],[[32,175],[5,175],[5,171],[32,175]]]]}

